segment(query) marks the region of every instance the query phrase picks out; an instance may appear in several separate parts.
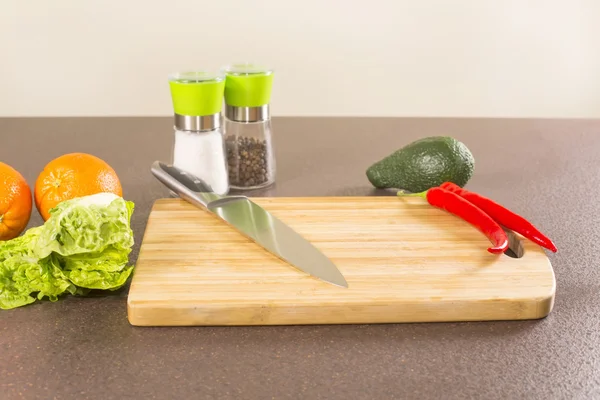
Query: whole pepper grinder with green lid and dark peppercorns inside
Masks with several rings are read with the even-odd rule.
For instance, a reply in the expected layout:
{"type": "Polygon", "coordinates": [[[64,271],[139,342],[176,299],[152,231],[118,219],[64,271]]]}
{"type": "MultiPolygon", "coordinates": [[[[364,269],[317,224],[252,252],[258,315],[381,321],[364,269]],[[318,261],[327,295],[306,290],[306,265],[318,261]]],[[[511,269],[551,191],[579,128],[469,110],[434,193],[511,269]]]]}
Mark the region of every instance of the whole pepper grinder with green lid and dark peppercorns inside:
{"type": "Polygon", "coordinates": [[[233,64],[225,73],[225,145],[229,184],[258,189],[275,181],[270,100],[273,70],[233,64]]]}

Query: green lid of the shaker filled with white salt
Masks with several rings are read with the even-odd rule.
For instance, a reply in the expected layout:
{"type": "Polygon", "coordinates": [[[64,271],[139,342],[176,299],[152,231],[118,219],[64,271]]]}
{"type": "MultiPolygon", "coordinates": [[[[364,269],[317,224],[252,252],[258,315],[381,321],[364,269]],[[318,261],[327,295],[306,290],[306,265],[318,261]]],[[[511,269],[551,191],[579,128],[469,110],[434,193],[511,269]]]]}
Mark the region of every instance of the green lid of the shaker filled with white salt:
{"type": "Polygon", "coordinates": [[[175,114],[213,115],[221,112],[225,75],[206,71],[179,72],[169,76],[175,114]]]}

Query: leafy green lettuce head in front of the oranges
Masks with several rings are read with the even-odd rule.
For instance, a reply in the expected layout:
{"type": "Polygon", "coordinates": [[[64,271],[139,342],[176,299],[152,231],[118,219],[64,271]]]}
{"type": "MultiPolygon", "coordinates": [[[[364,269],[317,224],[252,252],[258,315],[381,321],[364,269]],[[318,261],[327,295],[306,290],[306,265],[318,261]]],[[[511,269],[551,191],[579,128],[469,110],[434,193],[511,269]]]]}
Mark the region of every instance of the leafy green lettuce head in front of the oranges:
{"type": "Polygon", "coordinates": [[[79,197],[57,205],[44,225],[0,242],[0,308],[122,287],[133,271],[133,210],[110,193],[79,197]]]}

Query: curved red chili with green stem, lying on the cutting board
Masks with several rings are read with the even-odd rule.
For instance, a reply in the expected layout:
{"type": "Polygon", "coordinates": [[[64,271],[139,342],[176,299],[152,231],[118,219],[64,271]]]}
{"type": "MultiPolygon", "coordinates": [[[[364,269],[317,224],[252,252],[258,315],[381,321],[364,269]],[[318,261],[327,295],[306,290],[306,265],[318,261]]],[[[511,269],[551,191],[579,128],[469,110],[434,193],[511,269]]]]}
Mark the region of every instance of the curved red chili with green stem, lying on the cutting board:
{"type": "MultiPolygon", "coordinates": [[[[398,195],[403,194],[398,193],[398,195]]],[[[426,192],[408,194],[408,196],[425,197],[432,206],[445,210],[475,226],[493,243],[494,246],[488,248],[490,253],[500,254],[508,250],[508,237],[502,227],[480,208],[456,193],[434,187],[426,192]]]]}

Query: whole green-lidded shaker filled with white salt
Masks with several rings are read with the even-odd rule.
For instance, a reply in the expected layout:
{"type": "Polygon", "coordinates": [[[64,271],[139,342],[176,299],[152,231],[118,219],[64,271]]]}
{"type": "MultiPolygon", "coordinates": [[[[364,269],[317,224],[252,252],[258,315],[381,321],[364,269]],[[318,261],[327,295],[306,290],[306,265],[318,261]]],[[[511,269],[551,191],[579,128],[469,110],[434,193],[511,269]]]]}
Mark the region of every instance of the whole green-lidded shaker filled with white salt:
{"type": "Polygon", "coordinates": [[[191,71],[173,74],[173,165],[206,182],[220,195],[229,192],[221,111],[225,75],[191,71]]]}

